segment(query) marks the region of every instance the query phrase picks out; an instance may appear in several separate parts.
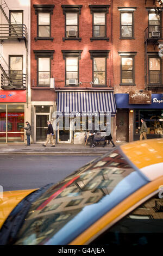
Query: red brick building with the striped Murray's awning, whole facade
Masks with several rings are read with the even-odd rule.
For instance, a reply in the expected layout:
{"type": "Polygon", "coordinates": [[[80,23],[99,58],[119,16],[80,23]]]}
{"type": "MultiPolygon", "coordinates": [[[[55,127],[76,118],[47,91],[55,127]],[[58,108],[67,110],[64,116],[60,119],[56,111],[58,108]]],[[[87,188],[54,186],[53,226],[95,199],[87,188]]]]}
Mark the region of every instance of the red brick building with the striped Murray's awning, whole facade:
{"type": "MultiPolygon", "coordinates": [[[[78,112],[81,125],[82,112],[93,115],[93,112],[111,111],[111,129],[114,129],[111,20],[111,1],[83,0],[72,4],[71,1],[49,0],[45,4],[43,0],[32,0],[31,84],[35,142],[45,139],[43,127],[47,126],[47,119],[52,120],[57,108],[61,112],[67,107],[69,112],[78,112]]],[[[73,125],[70,119],[71,129],[73,125]]],[[[78,136],[79,133],[73,131],[58,131],[57,140],[76,143],[78,136]]],[[[82,141],[84,136],[83,132],[82,141]]]]}

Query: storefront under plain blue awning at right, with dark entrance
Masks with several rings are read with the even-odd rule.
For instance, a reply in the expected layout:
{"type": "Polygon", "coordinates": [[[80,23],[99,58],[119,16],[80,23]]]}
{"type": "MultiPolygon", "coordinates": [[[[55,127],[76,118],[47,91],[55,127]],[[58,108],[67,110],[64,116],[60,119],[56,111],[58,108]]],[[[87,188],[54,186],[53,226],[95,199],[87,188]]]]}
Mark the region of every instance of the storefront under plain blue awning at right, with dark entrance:
{"type": "Polygon", "coordinates": [[[163,95],[151,94],[148,98],[146,92],[139,92],[136,96],[146,97],[149,99],[147,103],[142,100],[137,104],[130,103],[129,94],[115,94],[117,107],[117,133],[121,137],[121,126],[124,126],[122,112],[128,117],[128,125],[126,126],[126,134],[130,137],[130,141],[139,140],[140,134],[138,127],[141,126],[141,118],[144,118],[147,124],[147,138],[163,137],[163,95]],[[139,95],[138,95],[139,94],[139,95]],[[142,103],[142,104],[141,104],[142,103]],[[118,115],[118,113],[120,113],[118,115]],[[120,118],[118,118],[120,116],[120,118]]]}

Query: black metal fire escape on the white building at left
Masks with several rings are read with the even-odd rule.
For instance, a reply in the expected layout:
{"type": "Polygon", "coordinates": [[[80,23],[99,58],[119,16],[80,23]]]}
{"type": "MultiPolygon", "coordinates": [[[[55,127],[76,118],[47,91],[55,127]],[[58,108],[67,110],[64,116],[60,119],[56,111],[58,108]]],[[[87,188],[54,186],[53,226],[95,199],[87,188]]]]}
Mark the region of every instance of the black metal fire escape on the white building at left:
{"type": "MultiPolygon", "coordinates": [[[[2,14],[7,20],[6,24],[0,24],[0,44],[2,45],[4,41],[13,41],[13,40],[24,40],[26,45],[26,52],[28,56],[28,34],[27,34],[27,27],[24,24],[18,24],[14,19],[14,22],[10,22],[7,11],[9,11],[9,7],[7,3],[3,0],[2,4],[0,5],[0,9],[2,14]]],[[[26,74],[20,74],[16,70],[9,69],[9,65],[5,61],[2,54],[0,54],[0,69],[1,69],[1,89],[26,89],[26,74]]]]}

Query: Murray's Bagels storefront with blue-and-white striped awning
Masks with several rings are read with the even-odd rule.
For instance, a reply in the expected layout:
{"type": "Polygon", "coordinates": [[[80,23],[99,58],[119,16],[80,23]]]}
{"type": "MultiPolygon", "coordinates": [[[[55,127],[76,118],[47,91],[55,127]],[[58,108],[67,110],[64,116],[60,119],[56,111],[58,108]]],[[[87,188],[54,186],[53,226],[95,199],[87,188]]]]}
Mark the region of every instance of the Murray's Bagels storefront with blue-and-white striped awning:
{"type": "Polygon", "coordinates": [[[116,106],[113,92],[58,92],[57,118],[58,143],[83,144],[88,121],[97,124],[95,130],[103,131],[106,122],[115,118],[116,106]]]}

